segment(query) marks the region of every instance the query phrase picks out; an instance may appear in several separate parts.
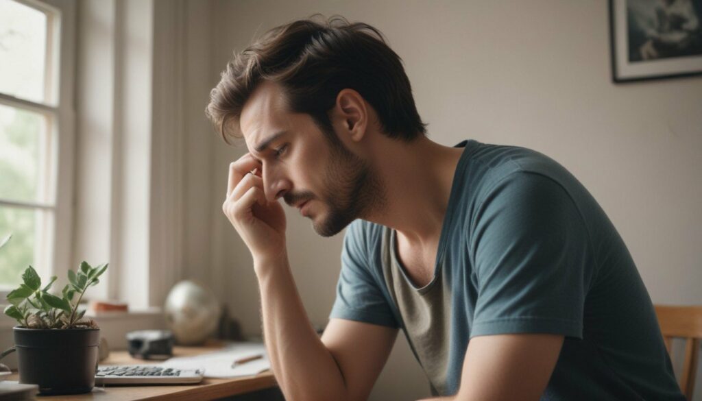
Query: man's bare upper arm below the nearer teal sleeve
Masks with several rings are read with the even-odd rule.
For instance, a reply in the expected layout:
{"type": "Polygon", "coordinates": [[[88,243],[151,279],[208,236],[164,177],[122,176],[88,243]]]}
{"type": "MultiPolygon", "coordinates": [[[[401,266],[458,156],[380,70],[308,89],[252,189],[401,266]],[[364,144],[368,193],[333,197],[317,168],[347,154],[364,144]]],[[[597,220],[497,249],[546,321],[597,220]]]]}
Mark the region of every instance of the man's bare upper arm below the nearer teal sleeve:
{"type": "Polygon", "coordinates": [[[563,336],[554,334],[473,337],[465,353],[458,394],[423,401],[537,401],[562,345],[563,336]]]}

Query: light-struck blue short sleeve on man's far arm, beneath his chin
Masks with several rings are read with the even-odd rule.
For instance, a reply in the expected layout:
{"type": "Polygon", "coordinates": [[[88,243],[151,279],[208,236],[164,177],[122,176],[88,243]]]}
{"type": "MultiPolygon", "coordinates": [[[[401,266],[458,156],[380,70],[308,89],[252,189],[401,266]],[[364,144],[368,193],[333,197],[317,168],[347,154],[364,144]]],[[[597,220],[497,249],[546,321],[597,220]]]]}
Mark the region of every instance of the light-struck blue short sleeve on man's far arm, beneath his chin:
{"type": "Polygon", "coordinates": [[[388,300],[369,265],[369,246],[360,221],[349,225],[343,242],[341,272],[330,318],[397,328],[388,300]]]}

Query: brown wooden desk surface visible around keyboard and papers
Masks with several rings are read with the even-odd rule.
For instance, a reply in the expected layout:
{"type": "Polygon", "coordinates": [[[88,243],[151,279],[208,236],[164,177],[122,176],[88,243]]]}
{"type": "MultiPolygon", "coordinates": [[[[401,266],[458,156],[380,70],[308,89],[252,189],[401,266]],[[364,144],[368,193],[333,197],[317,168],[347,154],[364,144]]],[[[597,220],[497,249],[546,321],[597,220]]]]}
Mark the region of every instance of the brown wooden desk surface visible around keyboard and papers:
{"type": "MultiPolygon", "coordinates": [[[[206,353],[220,348],[218,345],[204,347],[174,347],[173,356],[183,357],[206,353]]],[[[157,363],[154,361],[138,360],[129,355],[126,351],[113,351],[110,357],[100,362],[100,364],[147,364],[157,363]]],[[[8,380],[18,380],[18,374],[8,376],[8,380]]],[[[256,376],[238,377],[236,379],[203,379],[196,385],[178,386],[107,386],[95,387],[92,393],[77,395],[53,395],[51,397],[37,397],[37,400],[46,398],[51,401],[79,401],[79,400],[100,400],[100,401],[128,401],[128,400],[168,400],[168,401],[190,401],[190,400],[216,400],[223,397],[231,397],[250,393],[251,391],[262,390],[277,386],[275,378],[271,372],[263,372],[256,376]]]]}

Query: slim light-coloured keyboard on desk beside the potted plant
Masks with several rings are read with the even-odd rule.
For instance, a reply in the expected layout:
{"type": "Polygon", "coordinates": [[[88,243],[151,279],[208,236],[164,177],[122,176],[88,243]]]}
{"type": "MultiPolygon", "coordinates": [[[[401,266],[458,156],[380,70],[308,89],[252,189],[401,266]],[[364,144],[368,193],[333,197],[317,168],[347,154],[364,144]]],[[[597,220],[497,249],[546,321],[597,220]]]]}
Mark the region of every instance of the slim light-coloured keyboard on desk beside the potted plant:
{"type": "Polygon", "coordinates": [[[95,386],[107,384],[193,384],[202,381],[201,369],[175,369],[158,365],[100,366],[95,386]]]}

